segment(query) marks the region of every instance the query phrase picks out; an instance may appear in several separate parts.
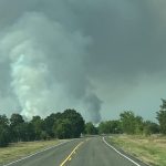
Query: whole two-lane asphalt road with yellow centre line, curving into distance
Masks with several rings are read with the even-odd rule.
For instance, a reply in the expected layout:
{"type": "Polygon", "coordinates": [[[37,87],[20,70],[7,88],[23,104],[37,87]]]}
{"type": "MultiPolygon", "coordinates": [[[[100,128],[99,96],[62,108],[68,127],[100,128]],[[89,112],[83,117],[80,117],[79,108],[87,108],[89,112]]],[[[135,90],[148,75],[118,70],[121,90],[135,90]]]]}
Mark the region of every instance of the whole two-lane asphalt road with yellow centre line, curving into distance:
{"type": "Polygon", "coordinates": [[[6,166],[146,166],[104,137],[73,139],[6,166]]]}

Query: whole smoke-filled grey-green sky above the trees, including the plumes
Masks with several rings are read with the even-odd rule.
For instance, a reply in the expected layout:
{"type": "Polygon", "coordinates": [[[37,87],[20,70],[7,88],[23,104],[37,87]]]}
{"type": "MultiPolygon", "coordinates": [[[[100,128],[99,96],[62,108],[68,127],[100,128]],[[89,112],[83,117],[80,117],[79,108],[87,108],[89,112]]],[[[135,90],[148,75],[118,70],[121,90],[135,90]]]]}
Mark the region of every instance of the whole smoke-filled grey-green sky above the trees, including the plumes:
{"type": "Polygon", "coordinates": [[[166,98],[165,0],[0,0],[0,114],[86,121],[166,98]]]}

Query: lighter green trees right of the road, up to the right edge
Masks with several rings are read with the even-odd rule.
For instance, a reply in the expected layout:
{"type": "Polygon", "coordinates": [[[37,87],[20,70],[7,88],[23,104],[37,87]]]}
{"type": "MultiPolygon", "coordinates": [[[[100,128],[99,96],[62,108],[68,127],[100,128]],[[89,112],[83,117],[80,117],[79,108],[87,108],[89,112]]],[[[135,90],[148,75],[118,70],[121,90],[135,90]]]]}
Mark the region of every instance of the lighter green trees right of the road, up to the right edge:
{"type": "Polygon", "coordinates": [[[101,122],[97,127],[92,123],[85,124],[85,134],[166,134],[166,100],[162,100],[160,110],[156,113],[158,124],[152,121],[144,121],[132,111],[124,111],[118,120],[101,122]]]}

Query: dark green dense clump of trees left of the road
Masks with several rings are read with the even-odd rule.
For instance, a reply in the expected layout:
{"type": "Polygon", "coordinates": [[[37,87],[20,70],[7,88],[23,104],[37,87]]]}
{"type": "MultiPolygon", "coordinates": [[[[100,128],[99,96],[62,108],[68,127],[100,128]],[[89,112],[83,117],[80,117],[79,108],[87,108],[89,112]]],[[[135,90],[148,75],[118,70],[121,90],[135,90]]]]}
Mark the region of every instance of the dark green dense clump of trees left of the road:
{"type": "Polygon", "coordinates": [[[33,116],[27,122],[20,114],[10,118],[0,115],[0,146],[14,142],[30,142],[50,138],[76,138],[84,131],[84,120],[75,110],[53,113],[44,120],[33,116]]]}

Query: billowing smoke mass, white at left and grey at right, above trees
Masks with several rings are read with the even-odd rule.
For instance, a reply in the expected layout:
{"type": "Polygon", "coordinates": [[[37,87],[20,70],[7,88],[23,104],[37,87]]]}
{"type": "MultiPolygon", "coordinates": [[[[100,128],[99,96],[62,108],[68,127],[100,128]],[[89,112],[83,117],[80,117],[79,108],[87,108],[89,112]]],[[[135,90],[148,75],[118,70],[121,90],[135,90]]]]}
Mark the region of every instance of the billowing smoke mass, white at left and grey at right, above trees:
{"type": "Polygon", "coordinates": [[[90,38],[66,30],[43,13],[25,13],[10,28],[1,40],[1,52],[10,60],[11,87],[22,115],[44,116],[68,107],[84,112],[80,107],[84,105],[85,117],[100,121],[101,103],[89,91],[83,65],[89,44],[90,38]]]}

